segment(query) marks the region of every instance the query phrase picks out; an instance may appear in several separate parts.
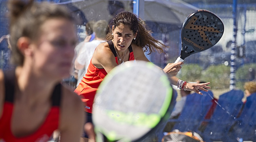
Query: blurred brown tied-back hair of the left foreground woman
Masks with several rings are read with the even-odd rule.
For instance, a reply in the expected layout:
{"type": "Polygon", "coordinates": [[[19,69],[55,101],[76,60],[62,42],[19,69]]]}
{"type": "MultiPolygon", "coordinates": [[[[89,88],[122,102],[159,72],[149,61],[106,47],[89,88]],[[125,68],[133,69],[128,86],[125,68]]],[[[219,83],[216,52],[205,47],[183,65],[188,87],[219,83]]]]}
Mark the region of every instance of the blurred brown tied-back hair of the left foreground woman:
{"type": "Polygon", "coordinates": [[[24,62],[24,56],[16,46],[17,40],[20,37],[28,37],[31,41],[37,41],[41,32],[40,27],[47,19],[64,18],[76,23],[68,9],[48,2],[37,3],[33,0],[9,0],[8,9],[11,57],[15,65],[23,65],[24,62]]]}

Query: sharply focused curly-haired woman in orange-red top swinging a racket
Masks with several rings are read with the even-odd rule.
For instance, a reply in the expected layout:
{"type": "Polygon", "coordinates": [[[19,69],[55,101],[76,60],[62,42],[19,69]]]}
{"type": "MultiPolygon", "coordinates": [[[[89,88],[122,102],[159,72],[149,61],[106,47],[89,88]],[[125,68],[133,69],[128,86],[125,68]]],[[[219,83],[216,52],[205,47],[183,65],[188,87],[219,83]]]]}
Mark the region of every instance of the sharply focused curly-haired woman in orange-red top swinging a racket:
{"type": "MultiPolygon", "coordinates": [[[[100,83],[113,68],[129,60],[150,62],[144,55],[145,51],[150,50],[150,53],[155,50],[163,52],[163,47],[166,47],[151,36],[145,22],[133,13],[119,13],[112,19],[108,27],[110,28],[106,38],[108,41],[96,47],[87,73],[74,91],[82,98],[85,103],[85,112],[89,114],[92,113],[93,100],[100,83]]],[[[170,77],[172,84],[198,94],[202,94],[199,90],[207,91],[204,88],[210,88],[206,86],[210,82],[194,84],[175,77],[182,64],[182,62],[169,63],[163,69],[170,77]]],[[[123,85],[126,84],[120,84],[120,86],[123,85]]]]}

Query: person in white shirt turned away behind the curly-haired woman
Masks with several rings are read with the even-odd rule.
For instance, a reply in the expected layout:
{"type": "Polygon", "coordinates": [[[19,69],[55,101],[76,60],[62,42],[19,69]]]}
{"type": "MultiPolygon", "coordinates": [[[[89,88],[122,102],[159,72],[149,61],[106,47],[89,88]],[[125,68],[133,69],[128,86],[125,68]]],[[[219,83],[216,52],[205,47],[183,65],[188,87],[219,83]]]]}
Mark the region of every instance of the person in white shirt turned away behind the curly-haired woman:
{"type": "Polygon", "coordinates": [[[81,47],[80,51],[78,52],[78,56],[76,57],[74,66],[75,69],[80,70],[78,72],[78,79],[77,79],[77,84],[81,82],[82,77],[85,75],[87,72],[88,65],[91,61],[93,52],[95,48],[100,44],[105,42],[106,40],[106,33],[108,29],[108,23],[106,20],[99,20],[95,22],[93,25],[93,32],[95,33],[95,40],[86,42],[84,45],[81,47]],[[81,73],[81,70],[82,71],[81,73]]]}

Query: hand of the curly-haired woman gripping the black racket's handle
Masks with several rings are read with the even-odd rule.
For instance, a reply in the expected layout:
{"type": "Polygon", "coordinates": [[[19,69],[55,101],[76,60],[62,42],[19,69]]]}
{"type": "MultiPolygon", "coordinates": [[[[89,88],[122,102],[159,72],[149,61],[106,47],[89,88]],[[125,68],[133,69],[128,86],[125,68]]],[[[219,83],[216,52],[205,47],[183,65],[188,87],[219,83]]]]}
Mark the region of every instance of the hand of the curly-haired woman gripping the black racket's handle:
{"type": "Polygon", "coordinates": [[[176,76],[181,69],[181,65],[183,65],[183,62],[168,63],[163,71],[167,73],[170,77],[176,76]]]}

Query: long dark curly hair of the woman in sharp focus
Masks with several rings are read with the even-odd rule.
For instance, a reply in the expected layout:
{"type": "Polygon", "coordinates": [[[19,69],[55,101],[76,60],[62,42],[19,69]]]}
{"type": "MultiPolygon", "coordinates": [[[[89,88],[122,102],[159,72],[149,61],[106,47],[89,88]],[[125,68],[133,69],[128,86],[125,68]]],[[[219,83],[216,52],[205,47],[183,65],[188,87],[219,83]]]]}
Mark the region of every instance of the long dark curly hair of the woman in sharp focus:
{"type": "Polygon", "coordinates": [[[147,52],[149,49],[149,54],[151,54],[152,51],[155,52],[156,49],[159,53],[162,53],[164,52],[163,48],[167,47],[152,37],[151,30],[148,30],[148,26],[141,18],[127,11],[121,12],[113,17],[111,23],[108,25],[109,33],[107,34],[106,40],[111,40],[114,38],[111,30],[112,26],[114,26],[115,29],[121,24],[129,26],[130,30],[132,30],[134,34],[137,32],[137,37],[135,40],[132,40],[132,44],[145,48],[144,52],[147,52]]]}

